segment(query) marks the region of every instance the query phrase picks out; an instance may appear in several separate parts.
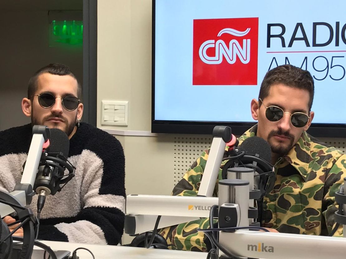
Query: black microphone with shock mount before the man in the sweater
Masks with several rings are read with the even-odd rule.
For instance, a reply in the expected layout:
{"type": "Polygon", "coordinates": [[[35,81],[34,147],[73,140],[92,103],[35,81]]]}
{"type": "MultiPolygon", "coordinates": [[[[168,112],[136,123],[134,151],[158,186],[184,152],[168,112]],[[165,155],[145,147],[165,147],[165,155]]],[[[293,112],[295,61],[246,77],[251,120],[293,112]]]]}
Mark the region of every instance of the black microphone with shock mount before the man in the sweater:
{"type": "Polygon", "coordinates": [[[43,208],[46,195],[54,195],[61,191],[74,177],[75,171],[75,167],[67,160],[70,149],[70,140],[67,135],[57,128],[51,129],[50,134],[49,146],[43,150],[33,188],[39,194],[38,213],[43,208]],[[68,174],[65,174],[65,169],[69,172],[68,174]]]}

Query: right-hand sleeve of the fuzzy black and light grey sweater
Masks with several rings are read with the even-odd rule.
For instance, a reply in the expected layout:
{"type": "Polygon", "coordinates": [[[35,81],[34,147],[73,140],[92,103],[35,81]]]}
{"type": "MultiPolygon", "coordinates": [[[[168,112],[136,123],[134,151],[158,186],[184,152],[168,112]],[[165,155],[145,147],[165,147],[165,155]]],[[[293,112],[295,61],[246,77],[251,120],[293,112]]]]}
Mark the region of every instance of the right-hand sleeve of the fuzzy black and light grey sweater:
{"type": "Polygon", "coordinates": [[[83,170],[82,209],[52,224],[41,221],[39,238],[53,241],[110,244],[120,242],[124,229],[125,157],[115,137],[83,150],[76,170],[83,170]]]}

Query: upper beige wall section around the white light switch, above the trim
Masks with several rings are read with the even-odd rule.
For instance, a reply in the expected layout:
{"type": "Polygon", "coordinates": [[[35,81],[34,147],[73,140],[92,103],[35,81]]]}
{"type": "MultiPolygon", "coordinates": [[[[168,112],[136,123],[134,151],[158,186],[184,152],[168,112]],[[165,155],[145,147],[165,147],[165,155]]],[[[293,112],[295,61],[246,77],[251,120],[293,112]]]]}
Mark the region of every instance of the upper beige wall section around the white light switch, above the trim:
{"type": "Polygon", "coordinates": [[[151,0],[98,1],[98,107],[101,100],[129,101],[128,126],[151,129],[151,0]]]}

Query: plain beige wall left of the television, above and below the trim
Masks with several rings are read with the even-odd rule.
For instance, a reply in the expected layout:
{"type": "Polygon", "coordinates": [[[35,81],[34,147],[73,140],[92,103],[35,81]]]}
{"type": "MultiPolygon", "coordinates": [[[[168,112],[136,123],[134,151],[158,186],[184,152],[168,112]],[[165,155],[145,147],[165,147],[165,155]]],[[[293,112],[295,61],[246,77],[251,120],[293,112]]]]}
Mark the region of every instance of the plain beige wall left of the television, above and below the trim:
{"type": "MultiPolygon", "coordinates": [[[[151,130],[151,0],[98,1],[97,126],[151,130]],[[101,125],[101,100],[128,100],[128,126],[101,125]]],[[[172,190],[172,136],[116,136],[126,159],[126,193],[172,190]]]]}

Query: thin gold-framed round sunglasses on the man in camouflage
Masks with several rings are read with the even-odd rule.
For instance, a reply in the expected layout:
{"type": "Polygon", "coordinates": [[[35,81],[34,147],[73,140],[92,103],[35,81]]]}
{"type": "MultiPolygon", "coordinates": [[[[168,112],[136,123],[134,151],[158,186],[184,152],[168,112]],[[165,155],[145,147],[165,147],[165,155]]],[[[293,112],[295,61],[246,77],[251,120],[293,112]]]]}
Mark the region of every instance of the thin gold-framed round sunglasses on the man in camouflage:
{"type": "MultiPolygon", "coordinates": [[[[262,104],[264,105],[262,99],[260,98],[260,101],[262,102],[262,104]]],[[[271,105],[269,107],[265,106],[266,108],[265,110],[265,117],[271,121],[271,122],[277,122],[280,121],[280,119],[282,119],[283,115],[285,113],[291,114],[291,123],[294,127],[297,128],[301,128],[304,127],[308,122],[310,117],[305,114],[305,113],[301,113],[301,112],[296,112],[296,113],[289,113],[289,112],[284,112],[282,108],[271,105]]]]}

